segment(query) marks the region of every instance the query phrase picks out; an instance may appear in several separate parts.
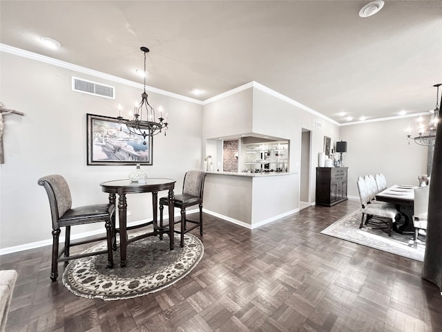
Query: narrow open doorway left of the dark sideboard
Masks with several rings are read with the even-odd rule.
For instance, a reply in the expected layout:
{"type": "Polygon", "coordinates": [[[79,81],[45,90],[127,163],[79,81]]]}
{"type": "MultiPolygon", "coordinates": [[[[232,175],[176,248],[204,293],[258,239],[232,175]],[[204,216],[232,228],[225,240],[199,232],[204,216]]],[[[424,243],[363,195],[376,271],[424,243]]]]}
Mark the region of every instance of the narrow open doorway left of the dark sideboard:
{"type": "Polygon", "coordinates": [[[302,128],[301,131],[301,165],[299,176],[299,210],[311,205],[310,189],[310,163],[311,163],[311,131],[302,128]]]}

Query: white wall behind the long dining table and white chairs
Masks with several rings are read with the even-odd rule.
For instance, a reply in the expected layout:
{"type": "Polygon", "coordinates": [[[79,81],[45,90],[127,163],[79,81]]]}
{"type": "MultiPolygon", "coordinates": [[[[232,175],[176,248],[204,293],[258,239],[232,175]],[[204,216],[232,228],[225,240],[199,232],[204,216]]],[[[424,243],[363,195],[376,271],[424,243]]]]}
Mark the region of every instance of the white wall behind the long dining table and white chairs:
{"type": "Polygon", "coordinates": [[[358,176],[383,173],[387,185],[418,185],[419,174],[427,173],[427,147],[406,138],[416,118],[385,120],[340,127],[347,141],[343,163],[348,168],[348,195],[358,197],[358,176]]]}

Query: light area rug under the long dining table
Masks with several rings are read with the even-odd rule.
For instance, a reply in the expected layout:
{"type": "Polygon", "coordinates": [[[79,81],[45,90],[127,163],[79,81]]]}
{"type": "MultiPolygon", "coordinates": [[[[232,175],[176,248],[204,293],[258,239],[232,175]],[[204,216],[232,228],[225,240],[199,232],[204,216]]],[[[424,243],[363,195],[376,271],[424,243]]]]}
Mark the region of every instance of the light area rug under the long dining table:
{"type": "Polygon", "coordinates": [[[359,228],[361,216],[361,209],[355,210],[329,225],[321,234],[362,244],[363,246],[383,250],[416,261],[423,261],[425,244],[419,242],[417,248],[414,248],[413,236],[410,234],[399,234],[392,231],[392,236],[389,237],[387,232],[371,228],[370,225],[364,225],[363,228],[359,228]]]}

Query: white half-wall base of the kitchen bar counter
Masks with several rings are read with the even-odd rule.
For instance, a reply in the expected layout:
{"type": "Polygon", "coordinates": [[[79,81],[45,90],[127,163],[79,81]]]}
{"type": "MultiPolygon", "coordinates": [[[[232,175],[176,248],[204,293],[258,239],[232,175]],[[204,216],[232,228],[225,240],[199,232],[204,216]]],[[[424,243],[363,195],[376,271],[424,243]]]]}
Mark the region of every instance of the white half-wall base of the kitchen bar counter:
{"type": "Polygon", "coordinates": [[[299,174],[206,172],[204,212],[253,229],[299,211],[299,174]]]}

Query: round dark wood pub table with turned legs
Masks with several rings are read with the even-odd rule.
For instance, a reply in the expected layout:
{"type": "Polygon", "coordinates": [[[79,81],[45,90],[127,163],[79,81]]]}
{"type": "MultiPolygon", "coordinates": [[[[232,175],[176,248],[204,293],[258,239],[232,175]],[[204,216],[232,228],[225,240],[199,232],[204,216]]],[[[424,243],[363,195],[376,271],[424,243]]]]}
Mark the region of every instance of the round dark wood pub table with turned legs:
{"type": "MultiPolygon", "coordinates": [[[[145,237],[151,237],[156,235],[162,235],[164,233],[169,233],[169,247],[173,250],[174,246],[174,229],[173,229],[173,189],[175,188],[175,180],[171,178],[148,178],[144,183],[132,182],[131,180],[114,180],[106,181],[100,183],[103,192],[109,194],[109,203],[115,204],[116,194],[118,194],[118,221],[119,227],[113,225],[115,232],[119,233],[119,250],[120,250],[120,266],[126,266],[126,248],[128,243],[137,241],[139,239],[144,239],[145,237]],[[168,190],[168,200],[169,200],[169,228],[163,228],[157,224],[158,216],[158,192],[162,190],[168,190]],[[152,208],[153,208],[153,220],[147,223],[142,223],[140,225],[133,225],[127,227],[126,213],[127,213],[127,200],[126,194],[137,194],[151,192],[152,193],[152,208]],[[145,232],[143,234],[137,235],[136,237],[131,237],[128,239],[127,231],[135,228],[142,228],[147,225],[153,225],[152,232],[145,232]]],[[[116,243],[114,243],[116,246],[116,243]]],[[[115,247],[116,248],[116,247],[115,247]]]]}

